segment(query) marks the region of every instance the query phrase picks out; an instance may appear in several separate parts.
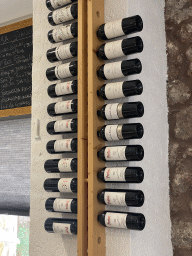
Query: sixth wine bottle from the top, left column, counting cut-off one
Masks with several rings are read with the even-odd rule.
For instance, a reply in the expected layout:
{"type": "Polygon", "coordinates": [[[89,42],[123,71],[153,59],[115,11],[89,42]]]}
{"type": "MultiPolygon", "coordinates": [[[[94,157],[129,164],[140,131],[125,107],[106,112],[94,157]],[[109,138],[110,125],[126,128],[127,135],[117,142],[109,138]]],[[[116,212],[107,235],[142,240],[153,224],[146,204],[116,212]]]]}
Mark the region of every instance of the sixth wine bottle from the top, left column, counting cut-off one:
{"type": "Polygon", "coordinates": [[[65,83],[52,84],[48,87],[47,93],[51,98],[77,93],[77,80],[65,83]]]}

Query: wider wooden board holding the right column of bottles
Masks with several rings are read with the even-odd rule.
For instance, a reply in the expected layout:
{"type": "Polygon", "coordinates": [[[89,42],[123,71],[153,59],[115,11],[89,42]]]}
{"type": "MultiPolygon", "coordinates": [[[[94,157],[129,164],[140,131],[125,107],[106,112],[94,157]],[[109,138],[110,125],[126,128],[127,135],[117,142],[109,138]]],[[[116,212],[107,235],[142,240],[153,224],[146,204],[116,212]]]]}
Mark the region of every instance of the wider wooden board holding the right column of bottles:
{"type": "Polygon", "coordinates": [[[97,110],[104,101],[97,97],[97,90],[103,82],[96,71],[103,64],[96,56],[98,47],[103,43],[96,32],[104,23],[104,1],[87,0],[88,3],[88,255],[105,256],[105,228],[97,221],[98,213],[105,206],[97,201],[97,193],[104,188],[104,183],[97,179],[97,172],[105,166],[97,157],[97,151],[104,146],[98,139],[97,130],[104,121],[97,117],[97,110]]]}

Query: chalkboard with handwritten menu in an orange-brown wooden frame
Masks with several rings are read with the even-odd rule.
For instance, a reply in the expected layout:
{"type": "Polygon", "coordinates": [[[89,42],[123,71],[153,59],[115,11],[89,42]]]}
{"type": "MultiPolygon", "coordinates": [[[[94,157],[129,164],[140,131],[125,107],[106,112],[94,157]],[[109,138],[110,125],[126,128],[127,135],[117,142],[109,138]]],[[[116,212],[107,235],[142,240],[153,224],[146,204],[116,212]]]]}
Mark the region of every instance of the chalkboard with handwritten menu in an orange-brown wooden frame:
{"type": "Polygon", "coordinates": [[[8,31],[13,28],[7,33],[0,28],[0,117],[7,116],[2,110],[17,115],[28,114],[31,109],[32,20],[29,24],[28,19],[6,26],[8,31]]]}

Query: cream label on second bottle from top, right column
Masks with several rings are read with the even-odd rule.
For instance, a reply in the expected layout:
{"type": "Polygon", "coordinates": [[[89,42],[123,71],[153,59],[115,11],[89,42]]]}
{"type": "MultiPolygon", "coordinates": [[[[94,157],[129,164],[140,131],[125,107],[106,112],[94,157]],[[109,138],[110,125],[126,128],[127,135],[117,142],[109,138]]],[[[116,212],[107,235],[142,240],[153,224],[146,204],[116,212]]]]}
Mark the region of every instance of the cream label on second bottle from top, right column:
{"type": "Polygon", "coordinates": [[[105,44],[104,51],[108,60],[125,56],[122,50],[122,41],[119,40],[105,44]]]}

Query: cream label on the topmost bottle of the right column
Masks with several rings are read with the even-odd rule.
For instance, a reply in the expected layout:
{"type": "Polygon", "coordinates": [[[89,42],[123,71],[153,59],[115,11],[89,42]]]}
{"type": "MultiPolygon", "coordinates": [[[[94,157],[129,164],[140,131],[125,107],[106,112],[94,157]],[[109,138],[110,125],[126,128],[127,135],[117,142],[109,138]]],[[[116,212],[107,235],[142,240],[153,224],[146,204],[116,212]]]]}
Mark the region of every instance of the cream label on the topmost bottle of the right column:
{"type": "Polygon", "coordinates": [[[122,29],[122,20],[106,23],[104,26],[104,32],[108,39],[125,35],[122,29]]]}

